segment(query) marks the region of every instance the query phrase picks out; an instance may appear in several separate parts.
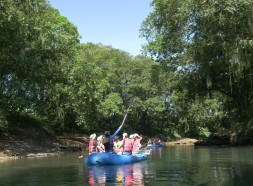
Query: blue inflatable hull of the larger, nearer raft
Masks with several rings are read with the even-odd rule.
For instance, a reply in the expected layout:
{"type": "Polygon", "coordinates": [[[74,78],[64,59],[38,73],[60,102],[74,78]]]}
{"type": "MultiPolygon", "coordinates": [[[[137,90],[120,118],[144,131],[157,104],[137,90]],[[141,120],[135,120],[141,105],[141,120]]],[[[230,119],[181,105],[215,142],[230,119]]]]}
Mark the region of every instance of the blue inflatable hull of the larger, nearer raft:
{"type": "Polygon", "coordinates": [[[107,152],[92,153],[85,159],[87,165],[124,165],[147,159],[147,154],[118,155],[107,152]]]}

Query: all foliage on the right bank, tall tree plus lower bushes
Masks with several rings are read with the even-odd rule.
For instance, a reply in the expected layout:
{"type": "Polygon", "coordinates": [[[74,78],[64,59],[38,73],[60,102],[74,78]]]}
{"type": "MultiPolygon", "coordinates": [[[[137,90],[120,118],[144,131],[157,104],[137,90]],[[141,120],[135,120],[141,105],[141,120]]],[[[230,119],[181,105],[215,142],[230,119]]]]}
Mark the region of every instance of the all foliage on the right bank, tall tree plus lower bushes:
{"type": "Polygon", "coordinates": [[[168,125],[182,135],[252,126],[252,1],[152,5],[141,32],[147,54],[173,74],[168,125]]]}

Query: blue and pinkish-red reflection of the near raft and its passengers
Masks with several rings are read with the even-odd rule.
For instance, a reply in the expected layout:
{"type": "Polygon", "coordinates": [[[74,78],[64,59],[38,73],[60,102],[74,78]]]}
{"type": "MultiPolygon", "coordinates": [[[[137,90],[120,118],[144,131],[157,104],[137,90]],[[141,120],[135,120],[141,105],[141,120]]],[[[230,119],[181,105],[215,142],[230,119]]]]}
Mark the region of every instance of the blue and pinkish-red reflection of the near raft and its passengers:
{"type": "Polygon", "coordinates": [[[143,169],[145,162],[120,166],[89,166],[90,185],[123,183],[124,185],[144,185],[143,169]]]}

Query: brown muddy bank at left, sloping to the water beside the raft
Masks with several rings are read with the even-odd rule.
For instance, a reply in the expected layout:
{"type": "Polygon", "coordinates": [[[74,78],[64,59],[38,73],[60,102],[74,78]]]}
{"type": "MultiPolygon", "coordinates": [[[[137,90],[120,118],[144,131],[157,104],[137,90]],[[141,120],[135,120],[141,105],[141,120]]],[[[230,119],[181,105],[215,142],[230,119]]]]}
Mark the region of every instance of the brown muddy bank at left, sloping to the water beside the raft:
{"type": "Polygon", "coordinates": [[[39,158],[67,151],[86,149],[87,138],[79,136],[56,136],[45,140],[21,139],[5,134],[0,138],[0,161],[17,158],[39,158]]]}

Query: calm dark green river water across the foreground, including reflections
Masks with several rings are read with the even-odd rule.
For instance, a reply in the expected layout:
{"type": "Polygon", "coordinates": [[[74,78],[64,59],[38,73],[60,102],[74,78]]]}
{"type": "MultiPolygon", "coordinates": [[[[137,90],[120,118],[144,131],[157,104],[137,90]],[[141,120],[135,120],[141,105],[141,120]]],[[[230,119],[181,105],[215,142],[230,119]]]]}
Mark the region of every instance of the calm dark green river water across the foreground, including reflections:
{"type": "Polygon", "coordinates": [[[0,163],[0,185],[253,185],[253,147],[153,148],[123,166],[85,166],[77,153],[0,163]]]}

